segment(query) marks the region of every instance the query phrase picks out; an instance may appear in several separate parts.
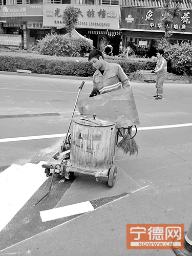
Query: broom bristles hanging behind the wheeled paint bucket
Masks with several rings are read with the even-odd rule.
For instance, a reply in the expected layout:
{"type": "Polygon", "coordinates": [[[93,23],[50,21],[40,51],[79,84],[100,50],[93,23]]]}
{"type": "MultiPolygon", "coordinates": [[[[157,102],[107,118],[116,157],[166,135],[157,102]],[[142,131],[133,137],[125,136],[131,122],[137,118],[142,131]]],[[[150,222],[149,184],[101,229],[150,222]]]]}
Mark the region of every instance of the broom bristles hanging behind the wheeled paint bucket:
{"type": "Polygon", "coordinates": [[[124,138],[119,141],[119,143],[117,144],[117,147],[120,148],[120,150],[123,150],[123,153],[126,155],[128,152],[131,155],[135,155],[137,153],[138,155],[138,150],[139,147],[137,145],[137,142],[135,141],[135,139],[130,139],[132,137],[132,135],[130,133],[127,133],[124,138]]]}

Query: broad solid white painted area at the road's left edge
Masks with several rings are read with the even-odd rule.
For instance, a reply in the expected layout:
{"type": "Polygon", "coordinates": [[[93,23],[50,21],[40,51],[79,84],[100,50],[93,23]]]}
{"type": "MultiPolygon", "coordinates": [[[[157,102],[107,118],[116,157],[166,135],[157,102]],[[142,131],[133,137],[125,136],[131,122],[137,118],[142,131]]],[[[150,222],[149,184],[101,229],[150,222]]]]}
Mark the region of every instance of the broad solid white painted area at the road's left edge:
{"type": "Polygon", "coordinates": [[[43,163],[11,165],[0,174],[0,231],[47,180],[43,163]]]}

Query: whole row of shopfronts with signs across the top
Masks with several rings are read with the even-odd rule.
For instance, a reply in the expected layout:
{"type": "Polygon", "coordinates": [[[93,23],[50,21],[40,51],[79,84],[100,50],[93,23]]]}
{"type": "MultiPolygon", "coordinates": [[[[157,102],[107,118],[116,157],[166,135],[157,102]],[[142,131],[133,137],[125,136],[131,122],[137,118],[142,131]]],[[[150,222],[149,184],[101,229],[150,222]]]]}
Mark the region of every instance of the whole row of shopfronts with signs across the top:
{"type": "MultiPolygon", "coordinates": [[[[119,54],[120,46],[129,47],[138,55],[152,56],[157,41],[164,36],[161,24],[163,0],[42,1],[0,0],[0,22],[5,34],[14,35],[13,38],[20,35],[23,49],[29,49],[37,39],[52,31],[66,33],[62,26],[62,12],[69,5],[79,10],[77,31],[92,39],[94,47],[99,47],[100,39],[106,37],[113,46],[114,55],[119,54]]],[[[174,19],[172,40],[192,40],[190,1],[183,1],[182,15],[174,19]]],[[[173,5],[174,0],[170,0],[170,4],[173,5]]]]}

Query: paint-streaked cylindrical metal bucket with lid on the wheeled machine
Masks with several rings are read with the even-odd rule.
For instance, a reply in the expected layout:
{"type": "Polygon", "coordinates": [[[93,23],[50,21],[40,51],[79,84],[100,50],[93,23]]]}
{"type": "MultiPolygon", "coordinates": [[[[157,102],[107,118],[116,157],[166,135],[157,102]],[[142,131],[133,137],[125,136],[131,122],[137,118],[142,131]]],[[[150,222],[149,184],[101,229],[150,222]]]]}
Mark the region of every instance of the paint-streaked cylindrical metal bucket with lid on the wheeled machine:
{"type": "Polygon", "coordinates": [[[70,162],[74,167],[109,170],[115,153],[116,123],[93,116],[72,119],[70,162]]]}

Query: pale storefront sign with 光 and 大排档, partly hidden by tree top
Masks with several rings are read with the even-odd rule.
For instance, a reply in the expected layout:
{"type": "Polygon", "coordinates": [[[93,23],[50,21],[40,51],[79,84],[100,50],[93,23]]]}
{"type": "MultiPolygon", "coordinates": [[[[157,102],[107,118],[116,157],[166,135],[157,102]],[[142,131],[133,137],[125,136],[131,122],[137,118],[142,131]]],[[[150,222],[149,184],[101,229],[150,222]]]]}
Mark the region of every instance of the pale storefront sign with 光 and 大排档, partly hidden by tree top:
{"type": "MultiPolygon", "coordinates": [[[[68,5],[44,5],[44,26],[60,27],[62,13],[68,5]]],[[[77,28],[119,29],[119,6],[77,5],[77,28]]]]}

